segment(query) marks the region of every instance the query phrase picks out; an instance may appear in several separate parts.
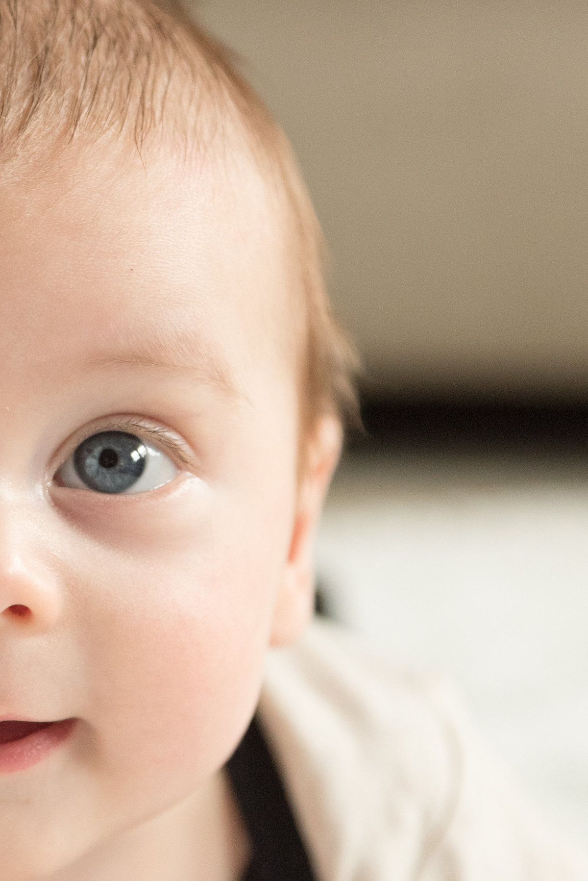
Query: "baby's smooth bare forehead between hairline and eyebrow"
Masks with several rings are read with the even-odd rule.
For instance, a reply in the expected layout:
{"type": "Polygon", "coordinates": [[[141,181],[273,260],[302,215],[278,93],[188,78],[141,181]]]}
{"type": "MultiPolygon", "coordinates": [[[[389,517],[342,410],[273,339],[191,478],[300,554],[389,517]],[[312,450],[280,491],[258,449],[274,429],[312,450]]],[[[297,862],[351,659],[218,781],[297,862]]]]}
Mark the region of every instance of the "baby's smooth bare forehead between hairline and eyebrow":
{"type": "Polygon", "coordinates": [[[103,142],[1,183],[6,326],[51,315],[76,357],[98,339],[145,361],[194,354],[227,387],[232,361],[263,354],[275,369],[290,332],[286,235],[259,168],[227,149],[142,161],[103,142]]]}

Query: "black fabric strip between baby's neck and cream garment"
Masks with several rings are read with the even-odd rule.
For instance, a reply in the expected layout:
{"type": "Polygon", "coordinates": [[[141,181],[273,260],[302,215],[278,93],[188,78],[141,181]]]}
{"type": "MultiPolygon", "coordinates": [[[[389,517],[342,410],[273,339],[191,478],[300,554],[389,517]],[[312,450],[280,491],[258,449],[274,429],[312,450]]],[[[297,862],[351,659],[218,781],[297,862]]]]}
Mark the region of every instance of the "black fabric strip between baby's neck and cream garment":
{"type": "Polygon", "coordinates": [[[226,767],[254,848],[241,881],[317,881],[255,716],[226,767]]]}

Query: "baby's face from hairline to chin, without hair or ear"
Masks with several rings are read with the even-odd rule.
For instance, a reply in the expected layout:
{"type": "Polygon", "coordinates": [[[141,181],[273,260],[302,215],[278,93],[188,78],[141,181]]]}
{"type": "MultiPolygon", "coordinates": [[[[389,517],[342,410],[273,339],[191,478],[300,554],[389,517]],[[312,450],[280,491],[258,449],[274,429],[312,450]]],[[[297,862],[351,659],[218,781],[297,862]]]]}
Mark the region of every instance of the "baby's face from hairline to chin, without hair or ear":
{"type": "Polygon", "coordinates": [[[297,511],[277,217],[238,158],[0,184],[0,720],[77,720],[0,747],[6,877],[178,803],[253,712],[297,511]]]}

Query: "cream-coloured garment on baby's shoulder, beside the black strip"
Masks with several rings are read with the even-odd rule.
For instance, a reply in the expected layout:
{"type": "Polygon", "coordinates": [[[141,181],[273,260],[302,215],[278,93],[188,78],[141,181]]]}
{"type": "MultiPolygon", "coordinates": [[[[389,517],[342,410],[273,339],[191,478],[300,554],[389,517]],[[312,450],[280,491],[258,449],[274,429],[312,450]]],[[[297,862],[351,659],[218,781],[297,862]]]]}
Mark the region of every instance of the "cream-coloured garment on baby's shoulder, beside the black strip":
{"type": "Polygon", "coordinates": [[[260,714],[320,881],[588,881],[443,679],[315,621],[270,653],[260,714]]]}

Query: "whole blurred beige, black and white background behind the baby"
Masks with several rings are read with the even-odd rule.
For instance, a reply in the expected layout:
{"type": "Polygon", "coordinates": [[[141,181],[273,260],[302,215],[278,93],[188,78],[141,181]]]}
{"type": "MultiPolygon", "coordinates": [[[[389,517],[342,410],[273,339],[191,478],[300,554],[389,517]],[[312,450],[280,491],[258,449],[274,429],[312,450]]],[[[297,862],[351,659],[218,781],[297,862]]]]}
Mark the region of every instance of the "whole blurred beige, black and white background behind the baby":
{"type": "Polygon", "coordinates": [[[588,841],[588,4],[202,0],[287,131],[363,356],[327,612],[445,670],[588,841]]]}

